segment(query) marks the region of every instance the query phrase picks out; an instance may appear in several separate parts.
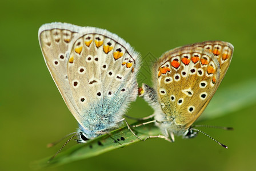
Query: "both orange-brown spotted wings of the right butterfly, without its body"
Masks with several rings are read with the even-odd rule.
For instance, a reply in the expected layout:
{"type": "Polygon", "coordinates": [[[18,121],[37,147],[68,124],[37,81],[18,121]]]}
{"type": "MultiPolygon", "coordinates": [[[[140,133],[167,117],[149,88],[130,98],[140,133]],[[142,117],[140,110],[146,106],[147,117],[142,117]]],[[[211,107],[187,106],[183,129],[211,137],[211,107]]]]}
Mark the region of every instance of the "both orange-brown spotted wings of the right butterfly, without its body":
{"type": "Polygon", "coordinates": [[[189,127],[201,115],[226,74],[233,55],[227,42],[178,47],[155,64],[155,88],[163,112],[189,127]]]}

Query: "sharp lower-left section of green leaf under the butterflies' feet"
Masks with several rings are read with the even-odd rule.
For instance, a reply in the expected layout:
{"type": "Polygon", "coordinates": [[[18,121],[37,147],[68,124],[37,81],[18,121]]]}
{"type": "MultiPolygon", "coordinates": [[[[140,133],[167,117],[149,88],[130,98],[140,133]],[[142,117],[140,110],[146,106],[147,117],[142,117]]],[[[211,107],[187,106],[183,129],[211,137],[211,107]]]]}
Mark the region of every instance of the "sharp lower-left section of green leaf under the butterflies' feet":
{"type": "MultiPolygon", "coordinates": [[[[161,133],[159,129],[154,126],[154,124],[149,124],[147,126],[132,129],[136,133],[136,135],[141,137],[141,139],[145,139],[149,135],[159,135],[161,133]]],[[[109,135],[99,136],[93,140],[88,141],[85,144],[77,144],[70,149],[59,153],[50,162],[48,161],[52,156],[36,161],[31,165],[31,167],[33,169],[40,169],[49,166],[67,164],[72,161],[97,156],[99,154],[109,152],[110,150],[122,148],[123,146],[131,145],[139,141],[141,140],[135,137],[127,127],[122,127],[110,132],[109,135]],[[121,137],[123,137],[125,140],[121,140],[121,137]]]]}

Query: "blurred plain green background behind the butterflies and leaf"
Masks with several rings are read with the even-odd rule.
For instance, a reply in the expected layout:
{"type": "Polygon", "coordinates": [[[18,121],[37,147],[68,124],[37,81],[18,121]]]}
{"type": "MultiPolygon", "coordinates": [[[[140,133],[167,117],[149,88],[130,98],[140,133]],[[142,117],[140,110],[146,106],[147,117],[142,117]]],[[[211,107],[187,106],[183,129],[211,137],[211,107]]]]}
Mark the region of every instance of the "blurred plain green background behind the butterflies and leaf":
{"type": "MultiPolygon", "coordinates": [[[[94,26],[121,36],[141,53],[139,84],[151,84],[149,61],[171,48],[205,40],[230,42],[235,47],[233,61],[219,87],[225,89],[256,79],[255,6],[256,1],[247,0],[2,1],[0,170],[30,170],[31,162],[53,155],[62,145],[47,149],[47,143],[77,128],[43,60],[38,43],[42,24],[94,26]]],[[[234,131],[202,129],[229,149],[203,135],[190,140],[176,137],[173,144],[152,139],[47,170],[256,170],[255,110],[251,105],[198,122],[234,127],[234,131]]],[[[138,98],[127,115],[152,113],[138,98]]]]}

